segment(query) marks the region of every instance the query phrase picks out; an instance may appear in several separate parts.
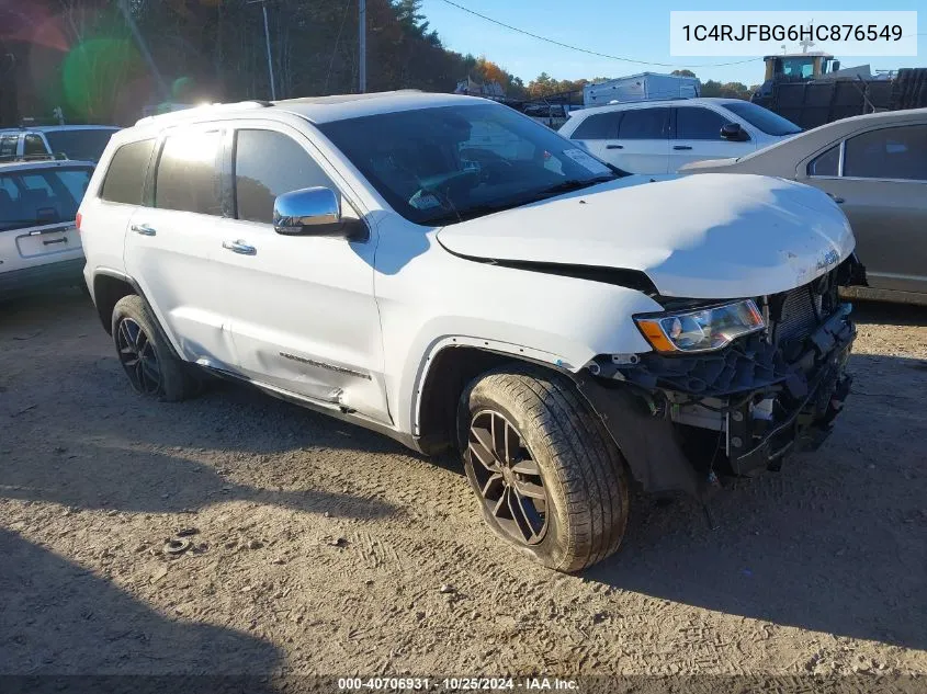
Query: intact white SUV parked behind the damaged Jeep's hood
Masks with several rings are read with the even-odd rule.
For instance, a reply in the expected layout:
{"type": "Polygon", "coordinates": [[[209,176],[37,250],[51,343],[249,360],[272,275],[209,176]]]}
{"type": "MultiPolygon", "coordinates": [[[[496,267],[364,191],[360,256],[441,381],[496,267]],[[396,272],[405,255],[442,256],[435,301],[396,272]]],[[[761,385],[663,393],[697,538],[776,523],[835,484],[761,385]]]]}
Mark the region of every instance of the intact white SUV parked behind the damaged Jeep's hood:
{"type": "Polygon", "coordinates": [[[569,114],[561,135],[631,173],[674,173],[703,159],[743,157],[801,133],[741,99],[642,101],[569,114]]]}

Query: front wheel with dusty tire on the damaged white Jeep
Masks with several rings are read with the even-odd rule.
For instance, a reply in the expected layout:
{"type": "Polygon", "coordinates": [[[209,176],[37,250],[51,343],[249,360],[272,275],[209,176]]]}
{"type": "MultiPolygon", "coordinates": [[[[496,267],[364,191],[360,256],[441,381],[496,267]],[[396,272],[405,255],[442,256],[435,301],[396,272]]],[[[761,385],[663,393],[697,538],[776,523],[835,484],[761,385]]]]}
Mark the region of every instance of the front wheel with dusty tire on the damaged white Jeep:
{"type": "Polygon", "coordinates": [[[624,459],[567,377],[528,364],[478,376],[461,397],[457,436],[486,522],[519,551],[572,572],[618,549],[628,525],[624,459]],[[505,443],[487,455],[482,442],[495,445],[500,428],[505,443]],[[488,457],[509,471],[493,471],[488,457]]]}

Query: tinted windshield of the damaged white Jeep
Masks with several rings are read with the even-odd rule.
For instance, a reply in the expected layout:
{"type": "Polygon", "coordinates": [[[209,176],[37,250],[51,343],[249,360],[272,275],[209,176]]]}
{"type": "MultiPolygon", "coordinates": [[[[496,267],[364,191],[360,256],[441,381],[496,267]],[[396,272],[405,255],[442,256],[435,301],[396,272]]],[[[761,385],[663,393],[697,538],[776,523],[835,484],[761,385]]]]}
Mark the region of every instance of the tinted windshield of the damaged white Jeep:
{"type": "Polygon", "coordinates": [[[499,104],[320,124],[400,215],[453,224],[609,181],[623,171],[499,104]]]}

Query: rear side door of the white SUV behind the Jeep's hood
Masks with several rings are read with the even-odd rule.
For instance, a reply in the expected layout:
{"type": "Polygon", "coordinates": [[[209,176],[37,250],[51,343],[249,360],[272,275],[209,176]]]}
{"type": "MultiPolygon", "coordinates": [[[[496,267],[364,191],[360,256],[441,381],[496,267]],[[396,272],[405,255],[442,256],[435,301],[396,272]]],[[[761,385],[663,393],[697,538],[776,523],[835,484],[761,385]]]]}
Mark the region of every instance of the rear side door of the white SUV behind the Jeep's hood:
{"type": "Polygon", "coordinates": [[[628,109],[622,112],[618,139],[618,163],[631,173],[669,171],[670,110],[666,106],[628,109]]]}

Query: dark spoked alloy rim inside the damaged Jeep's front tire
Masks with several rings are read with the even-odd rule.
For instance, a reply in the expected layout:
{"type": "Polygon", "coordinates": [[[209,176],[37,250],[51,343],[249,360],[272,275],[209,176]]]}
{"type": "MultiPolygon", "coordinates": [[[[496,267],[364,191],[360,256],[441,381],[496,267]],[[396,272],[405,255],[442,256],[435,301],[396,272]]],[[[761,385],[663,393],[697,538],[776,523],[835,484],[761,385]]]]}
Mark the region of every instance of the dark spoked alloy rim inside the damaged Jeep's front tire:
{"type": "Polygon", "coordinates": [[[484,410],[471,420],[467,455],[476,491],[511,539],[536,545],[547,530],[547,492],[541,468],[519,431],[502,414],[484,410]]]}

